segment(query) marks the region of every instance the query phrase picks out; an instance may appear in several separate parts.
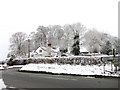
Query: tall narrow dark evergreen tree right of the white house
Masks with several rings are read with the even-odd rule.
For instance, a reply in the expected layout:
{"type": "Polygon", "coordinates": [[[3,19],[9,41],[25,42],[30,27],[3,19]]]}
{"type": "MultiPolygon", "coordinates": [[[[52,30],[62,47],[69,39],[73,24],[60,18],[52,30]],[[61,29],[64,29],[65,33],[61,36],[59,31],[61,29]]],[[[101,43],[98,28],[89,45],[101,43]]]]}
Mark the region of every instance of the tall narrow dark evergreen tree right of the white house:
{"type": "Polygon", "coordinates": [[[76,34],[74,36],[74,44],[72,46],[73,50],[72,53],[74,55],[79,55],[80,54],[80,47],[79,47],[79,34],[76,34]]]}

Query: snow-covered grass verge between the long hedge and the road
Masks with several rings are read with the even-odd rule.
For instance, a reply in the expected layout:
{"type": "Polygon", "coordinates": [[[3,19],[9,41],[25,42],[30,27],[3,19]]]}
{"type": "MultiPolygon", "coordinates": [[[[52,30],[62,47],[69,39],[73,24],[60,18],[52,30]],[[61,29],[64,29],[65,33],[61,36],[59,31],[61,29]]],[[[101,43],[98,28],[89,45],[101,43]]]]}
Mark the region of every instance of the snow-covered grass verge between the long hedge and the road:
{"type": "MultiPolygon", "coordinates": [[[[74,74],[74,75],[100,75],[100,76],[112,76],[120,77],[120,72],[114,73],[111,71],[111,65],[58,65],[58,64],[27,64],[23,66],[19,71],[35,71],[35,72],[47,72],[53,74],[74,74]],[[105,73],[104,73],[105,71],[105,73]]],[[[113,70],[114,70],[113,66],[113,70]]]]}

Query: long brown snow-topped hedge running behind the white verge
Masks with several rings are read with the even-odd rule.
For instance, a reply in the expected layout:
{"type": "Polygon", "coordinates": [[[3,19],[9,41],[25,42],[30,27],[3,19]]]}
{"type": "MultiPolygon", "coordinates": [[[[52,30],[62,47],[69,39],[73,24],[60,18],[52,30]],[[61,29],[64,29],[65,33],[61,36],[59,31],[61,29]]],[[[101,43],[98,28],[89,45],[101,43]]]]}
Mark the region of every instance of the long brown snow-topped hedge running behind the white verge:
{"type": "Polygon", "coordinates": [[[44,63],[58,65],[70,64],[70,65],[97,65],[102,64],[100,57],[90,56],[77,56],[77,57],[41,57],[31,58],[26,60],[27,63],[44,63]]]}

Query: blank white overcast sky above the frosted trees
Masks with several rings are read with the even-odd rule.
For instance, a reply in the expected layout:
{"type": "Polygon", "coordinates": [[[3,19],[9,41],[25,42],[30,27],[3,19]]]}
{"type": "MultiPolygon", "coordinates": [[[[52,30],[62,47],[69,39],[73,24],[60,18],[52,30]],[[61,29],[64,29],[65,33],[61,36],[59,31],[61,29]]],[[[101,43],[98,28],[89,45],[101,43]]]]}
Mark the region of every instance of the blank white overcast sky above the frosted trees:
{"type": "Polygon", "coordinates": [[[113,36],[118,35],[119,0],[0,0],[0,60],[9,52],[9,38],[16,32],[36,31],[38,26],[80,22],[113,36]]]}

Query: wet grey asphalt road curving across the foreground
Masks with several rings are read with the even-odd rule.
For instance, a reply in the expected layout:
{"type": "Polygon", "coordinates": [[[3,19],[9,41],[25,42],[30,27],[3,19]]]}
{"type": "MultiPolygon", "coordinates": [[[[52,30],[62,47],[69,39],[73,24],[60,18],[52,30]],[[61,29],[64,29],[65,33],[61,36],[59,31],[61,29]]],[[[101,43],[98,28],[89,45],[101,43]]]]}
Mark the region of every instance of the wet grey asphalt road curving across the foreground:
{"type": "Polygon", "coordinates": [[[2,78],[11,88],[118,88],[117,78],[91,78],[70,75],[2,71],[2,78]]]}

